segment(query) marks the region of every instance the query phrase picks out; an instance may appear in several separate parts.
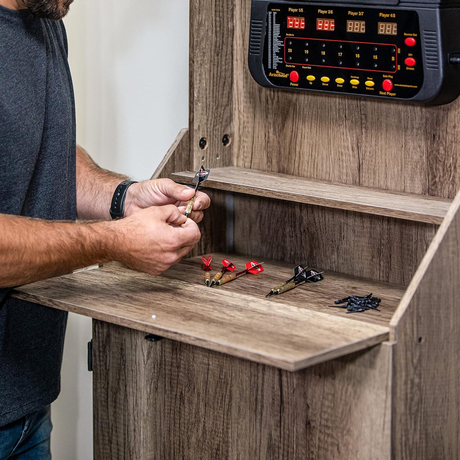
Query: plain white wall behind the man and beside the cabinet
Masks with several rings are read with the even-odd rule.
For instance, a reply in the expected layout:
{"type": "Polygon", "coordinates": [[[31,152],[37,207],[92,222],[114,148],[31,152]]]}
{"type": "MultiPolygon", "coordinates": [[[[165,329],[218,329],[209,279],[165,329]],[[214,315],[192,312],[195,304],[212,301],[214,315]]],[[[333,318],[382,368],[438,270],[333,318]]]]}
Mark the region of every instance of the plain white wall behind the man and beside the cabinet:
{"type": "MultiPolygon", "coordinates": [[[[102,167],[149,178],[188,126],[188,0],[75,0],[64,23],[77,141],[102,167]]],[[[70,314],[52,406],[57,460],[92,458],[90,339],[91,320],[70,314]]]]}

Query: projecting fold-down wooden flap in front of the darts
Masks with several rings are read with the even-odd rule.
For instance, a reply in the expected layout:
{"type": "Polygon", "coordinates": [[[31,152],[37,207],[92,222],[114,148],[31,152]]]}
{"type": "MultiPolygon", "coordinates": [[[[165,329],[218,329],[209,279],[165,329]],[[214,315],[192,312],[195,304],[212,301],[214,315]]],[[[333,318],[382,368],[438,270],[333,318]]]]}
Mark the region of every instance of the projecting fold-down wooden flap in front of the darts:
{"type": "MultiPolygon", "coordinates": [[[[287,294],[275,301],[248,295],[252,290],[241,294],[209,288],[202,283],[202,272],[198,275],[200,284],[103,267],[23,286],[13,295],[288,370],[388,338],[388,327],[359,321],[345,312],[299,308],[287,303],[287,294]]],[[[253,286],[258,285],[257,276],[247,275],[251,277],[253,286]]],[[[359,286],[358,279],[354,282],[359,286]]],[[[327,309],[330,299],[330,294],[318,290],[310,303],[321,302],[327,309]]]]}

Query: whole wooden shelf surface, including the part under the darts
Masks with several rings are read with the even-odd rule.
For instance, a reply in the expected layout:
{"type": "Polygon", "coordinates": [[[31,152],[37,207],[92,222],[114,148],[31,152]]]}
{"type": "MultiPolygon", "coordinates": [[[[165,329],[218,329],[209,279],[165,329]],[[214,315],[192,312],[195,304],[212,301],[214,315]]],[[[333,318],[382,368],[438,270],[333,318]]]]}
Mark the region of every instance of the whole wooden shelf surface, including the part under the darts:
{"type": "MultiPolygon", "coordinates": [[[[250,260],[225,257],[237,268],[250,260]]],[[[222,258],[213,254],[216,267],[222,258]]],[[[291,276],[292,265],[264,262],[261,274],[214,288],[204,284],[197,257],[161,276],[107,266],[22,286],[12,295],[287,370],[388,339],[403,286],[326,272],[322,282],[265,299],[273,285],[291,276]],[[381,312],[347,314],[328,307],[345,293],[369,292],[382,299],[381,312]]]]}

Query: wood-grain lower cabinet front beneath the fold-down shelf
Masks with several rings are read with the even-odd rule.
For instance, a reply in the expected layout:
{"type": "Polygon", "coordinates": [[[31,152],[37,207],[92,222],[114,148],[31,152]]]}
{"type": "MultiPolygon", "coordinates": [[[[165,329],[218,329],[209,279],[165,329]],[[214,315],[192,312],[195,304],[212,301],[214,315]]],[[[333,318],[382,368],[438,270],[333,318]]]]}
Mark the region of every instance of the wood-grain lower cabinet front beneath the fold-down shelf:
{"type": "Polygon", "coordinates": [[[94,322],[96,460],[390,458],[391,345],[288,372],[94,322]]]}

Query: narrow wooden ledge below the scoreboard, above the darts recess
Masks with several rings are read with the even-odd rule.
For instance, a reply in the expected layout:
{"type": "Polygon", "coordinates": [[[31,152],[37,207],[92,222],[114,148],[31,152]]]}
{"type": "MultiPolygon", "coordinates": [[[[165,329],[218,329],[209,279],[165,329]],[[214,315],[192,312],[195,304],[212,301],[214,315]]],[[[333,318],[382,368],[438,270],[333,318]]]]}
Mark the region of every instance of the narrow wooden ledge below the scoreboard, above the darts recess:
{"type": "MultiPolygon", "coordinates": [[[[194,176],[194,172],[184,171],[173,173],[171,178],[187,184],[191,183],[194,176]]],[[[452,202],[446,198],[238,167],[213,168],[209,179],[202,186],[431,224],[443,221],[452,202]]]]}

